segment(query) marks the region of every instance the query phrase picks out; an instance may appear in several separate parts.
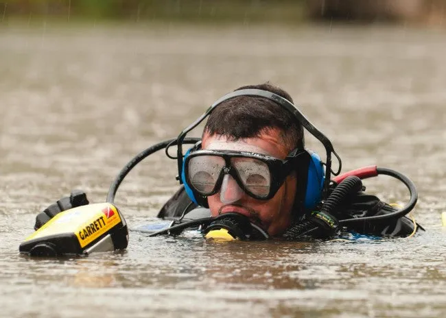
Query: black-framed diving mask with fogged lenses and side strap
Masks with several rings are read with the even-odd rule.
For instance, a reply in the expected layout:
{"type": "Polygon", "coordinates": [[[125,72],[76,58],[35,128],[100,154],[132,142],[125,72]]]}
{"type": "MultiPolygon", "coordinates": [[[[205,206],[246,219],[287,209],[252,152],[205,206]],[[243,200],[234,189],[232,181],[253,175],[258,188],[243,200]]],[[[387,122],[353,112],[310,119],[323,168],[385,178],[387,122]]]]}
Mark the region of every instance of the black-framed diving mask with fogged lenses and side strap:
{"type": "Polygon", "coordinates": [[[245,151],[197,150],[185,159],[187,184],[200,195],[209,196],[222,191],[225,201],[239,197],[241,191],[254,199],[268,200],[274,197],[287,175],[296,167],[296,160],[305,152],[294,150],[285,160],[245,151]],[[227,193],[228,183],[234,194],[227,193]]]}

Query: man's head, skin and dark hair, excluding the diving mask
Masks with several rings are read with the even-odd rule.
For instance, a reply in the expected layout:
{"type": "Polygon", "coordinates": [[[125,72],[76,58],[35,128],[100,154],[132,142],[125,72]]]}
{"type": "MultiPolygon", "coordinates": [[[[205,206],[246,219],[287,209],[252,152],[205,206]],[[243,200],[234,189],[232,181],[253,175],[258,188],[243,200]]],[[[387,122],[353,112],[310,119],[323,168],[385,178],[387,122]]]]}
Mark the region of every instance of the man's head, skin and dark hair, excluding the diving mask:
{"type": "MultiPolygon", "coordinates": [[[[248,88],[268,90],[292,102],[284,90],[270,84],[243,86],[237,90],[248,88]]],[[[280,160],[285,160],[296,148],[303,148],[302,125],[279,104],[263,97],[240,96],[222,102],[209,115],[202,136],[202,149],[205,150],[248,151],[280,160]]],[[[220,191],[207,200],[214,217],[225,212],[239,212],[276,235],[292,221],[297,187],[296,172],[290,169],[272,198],[255,199],[235,178],[226,174],[220,191]]]]}

